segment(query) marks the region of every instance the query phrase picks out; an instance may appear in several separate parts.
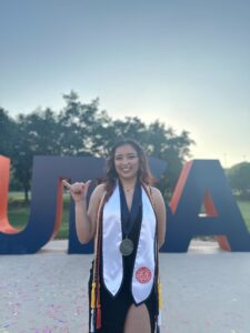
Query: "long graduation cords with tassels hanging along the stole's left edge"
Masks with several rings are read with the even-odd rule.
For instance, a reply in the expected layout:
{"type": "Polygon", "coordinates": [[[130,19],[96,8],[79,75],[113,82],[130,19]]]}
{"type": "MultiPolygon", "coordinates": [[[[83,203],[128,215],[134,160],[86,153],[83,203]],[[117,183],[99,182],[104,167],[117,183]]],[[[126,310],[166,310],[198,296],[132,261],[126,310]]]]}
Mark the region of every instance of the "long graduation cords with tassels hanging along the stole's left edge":
{"type": "Polygon", "coordinates": [[[94,242],[93,278],[90,295],[90,333],[96,333],[101,329],[101,300],[100,300],[100,251],[101,251],[101,214],[104,204],[106,193],[103,194],[98,208],[97,215],[97,236],[94,242]]]}

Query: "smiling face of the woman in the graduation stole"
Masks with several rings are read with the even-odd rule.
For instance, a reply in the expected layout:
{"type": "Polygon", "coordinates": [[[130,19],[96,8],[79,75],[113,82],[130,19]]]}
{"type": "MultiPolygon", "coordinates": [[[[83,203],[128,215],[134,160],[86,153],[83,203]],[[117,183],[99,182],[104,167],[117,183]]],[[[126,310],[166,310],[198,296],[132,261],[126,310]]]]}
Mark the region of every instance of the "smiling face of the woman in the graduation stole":
{"type": "Polygon", "coordinates": [[[120,145],[114,152],[114,168],[120,179],[137,178],[139,170],[139,157],[130,144],[120,145]]]}

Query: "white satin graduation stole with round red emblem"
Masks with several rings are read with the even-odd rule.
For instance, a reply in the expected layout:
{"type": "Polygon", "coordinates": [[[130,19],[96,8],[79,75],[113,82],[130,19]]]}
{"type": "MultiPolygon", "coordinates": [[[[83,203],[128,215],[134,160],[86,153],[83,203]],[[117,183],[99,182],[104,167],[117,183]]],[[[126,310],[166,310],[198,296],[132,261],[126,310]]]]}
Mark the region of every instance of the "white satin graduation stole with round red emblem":
{"type": "MultiPolygon", "coordinates": [[[[132,296],[136,304],[150,295],[156,271],[157,220],[146,190],[142,186],[142,221],[133,273],[132,296]]],[[[114,188],[103,208],[102,216],[102,274],[107,290],[116,296],[122,285],[123,263],[119,246],[122,242],[119,186],[114,188]]]]}

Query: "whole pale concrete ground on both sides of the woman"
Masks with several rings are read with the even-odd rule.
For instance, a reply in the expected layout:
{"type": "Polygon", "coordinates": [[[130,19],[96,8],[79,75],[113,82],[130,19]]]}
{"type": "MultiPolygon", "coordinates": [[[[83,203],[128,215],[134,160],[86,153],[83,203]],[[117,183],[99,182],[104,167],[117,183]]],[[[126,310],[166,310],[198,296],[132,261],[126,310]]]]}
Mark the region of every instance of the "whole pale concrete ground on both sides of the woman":
{"type": "MultiPolygon", "coordinates": [[[[32,255],[0,255],[0,333],[87,333],[92,255],[53,241],[32,255]]],[[[193,241],[160,255],[161,333],[250,333],[250,253],[193,241]]],[[[143,332],[140,332],[143,333],[143,332]]]]}

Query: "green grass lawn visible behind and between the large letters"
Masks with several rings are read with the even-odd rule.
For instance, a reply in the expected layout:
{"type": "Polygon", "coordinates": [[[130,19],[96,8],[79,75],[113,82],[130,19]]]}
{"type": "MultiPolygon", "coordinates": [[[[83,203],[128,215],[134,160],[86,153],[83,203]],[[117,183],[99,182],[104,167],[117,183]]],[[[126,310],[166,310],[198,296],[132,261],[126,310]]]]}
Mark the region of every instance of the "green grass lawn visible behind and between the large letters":
{"type": "MultiPolygon", "coordinates": [[[[238,200],[238,206],[241,211],[246,225],[250,232],[250,201],[238,200]]],[[[8,218],[12,226],[22,230],[29,220],[30,208],[23,203],[23,195],[19,192],[12,192],[9,195],[8,218]]],[[[56,239],[68,239],[69,236],[69,213],[70,196],[63,195],[63,213],[60,230],[56,239]]]]}

